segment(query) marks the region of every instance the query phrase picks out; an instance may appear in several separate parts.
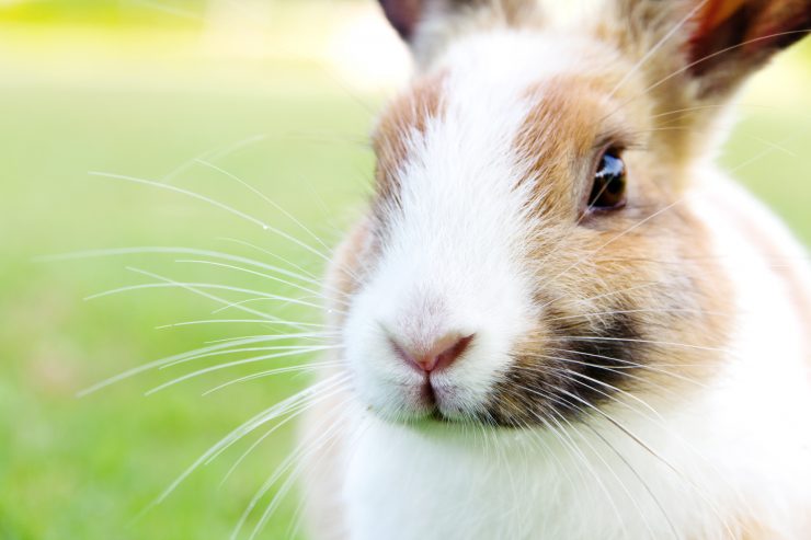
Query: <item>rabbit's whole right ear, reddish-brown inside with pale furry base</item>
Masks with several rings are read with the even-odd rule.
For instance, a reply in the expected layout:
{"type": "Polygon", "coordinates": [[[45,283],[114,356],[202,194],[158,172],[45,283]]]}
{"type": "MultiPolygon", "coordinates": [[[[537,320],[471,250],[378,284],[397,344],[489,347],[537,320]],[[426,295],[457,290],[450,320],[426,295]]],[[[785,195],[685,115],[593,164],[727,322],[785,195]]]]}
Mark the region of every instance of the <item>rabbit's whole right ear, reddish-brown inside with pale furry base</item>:
{"type": "Polygon", "coordinates": [[[597,35],[632,64],[626,79],[641,79],[651,137],[674,162],[716,149],[736,90],[811,30],[811,0],[608,2],[614,13],[598,21],[597,35]]]}

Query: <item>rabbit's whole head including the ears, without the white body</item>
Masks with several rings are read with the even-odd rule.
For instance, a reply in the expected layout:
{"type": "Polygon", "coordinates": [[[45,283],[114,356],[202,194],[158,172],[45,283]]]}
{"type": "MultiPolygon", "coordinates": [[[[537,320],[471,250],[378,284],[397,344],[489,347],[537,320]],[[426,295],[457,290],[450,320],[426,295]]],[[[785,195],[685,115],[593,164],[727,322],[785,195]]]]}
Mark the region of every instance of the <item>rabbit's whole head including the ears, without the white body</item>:
{"type": "Polygon", "coordinates": [[[529,426],[711,377],[733,276],[690,187],[738,85],[807,33],[808,1],[382,4],[420,70],[376,130],[344,279],[362,400],[529,426]]]}

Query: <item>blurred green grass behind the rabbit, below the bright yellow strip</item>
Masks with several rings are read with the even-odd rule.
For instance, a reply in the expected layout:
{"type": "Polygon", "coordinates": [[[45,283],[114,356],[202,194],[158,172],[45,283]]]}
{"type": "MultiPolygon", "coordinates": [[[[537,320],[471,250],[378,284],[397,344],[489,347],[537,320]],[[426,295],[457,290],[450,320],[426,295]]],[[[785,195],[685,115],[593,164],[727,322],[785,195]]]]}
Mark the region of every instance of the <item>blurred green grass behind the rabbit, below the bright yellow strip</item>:
{"type": "MultiPolygon", "coordinates": [[[[59,48],[58,43],[38,46],[46,53],[37,53],[44,55],[37,59],[49,58],[48,47],[59,48]]],[[[318,257],[199,200],[88,172],[161,179],[203,152],[264,135],[215,161],[333,243],[365,197],[372,157],[363,140],[372,117],[323,69],[300,61],[148,66],[104,57],[75,59],[73,69],[66,69],[60,58],[56,66],[53,59],[35,65],[25,57],[0,57],[0,68],[7,68],[0,69],[7,73],[0,81],[0,539],[227,538],[254,491],[290,451],[290,429],[259,447],[222,487],[220,480],[248,444],[202,468],[163,504],[132,520],[220,436],[301,388],[306,378],[261,379],[201,398],[217,383],[251,372],[236,369],[142,397],[184,372],[174,369],[78,400],[78,390],[125,368],[206,341],[264,331],[248,325],[155,330],[208,318],[217,308],[184,291],[82,298],[146,282],[127,266],[178,279],[275,287],[256,276],[176,263],[172,256],[34,258],[92,248],[183,245],[272,262],[218,240],[232,237],[320,272],[318,257]],[[55,74],[62,71],[68,74],[55,74]]],[[[789,68],[795,69],[784,66],[789,68]]],[[[378,102],[367,101],[372,107],[378,102]]],[[[769,100],[758,95],[757,101],[769,100]]],[[[734,168],[767,148],[764,140],[780,141],[793,152],[770,151],[736,174],[811,242],[811,102],[775,104],[776,110],[751,110],[722,161],[734,168]]],[[[193,165],[172,183],[306,238],[273,207],[215,171],[193,165]]],[[[301,309],[282,310],[290,318],[318,319],[301,309]]],[[[263,538],[285,537],[294,512],[295,502],[288,501],[263,538]]],[[[249,525],[254,522],[255,517],[249,525]]]]}

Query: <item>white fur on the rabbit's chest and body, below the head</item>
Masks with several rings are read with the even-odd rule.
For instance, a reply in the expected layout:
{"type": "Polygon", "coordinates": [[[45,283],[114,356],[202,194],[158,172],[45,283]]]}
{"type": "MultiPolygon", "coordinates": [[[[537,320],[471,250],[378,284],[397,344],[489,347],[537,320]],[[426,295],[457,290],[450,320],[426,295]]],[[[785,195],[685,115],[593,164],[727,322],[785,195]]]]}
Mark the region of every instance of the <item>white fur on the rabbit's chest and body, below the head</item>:
{"type": "Polygon", "coordinates": [[[484,438],[473,427],[420,430],[361,415],[345,478],[351,538],[721,539],[741,535],[736,524],[747,516],[768,538],[807,538],[798,519],[811,499],[802,329],[772,263],[713,200],[743,208],[787,256],[801,250],[739,187],[704,185],[689,204],[734,280],[736,345],[719,352],[724,374],[693,399],[655,414],[635,401],[607,410],[656,457],[599,418],[591,425],[615,450],[583,425],[484,438]]]}

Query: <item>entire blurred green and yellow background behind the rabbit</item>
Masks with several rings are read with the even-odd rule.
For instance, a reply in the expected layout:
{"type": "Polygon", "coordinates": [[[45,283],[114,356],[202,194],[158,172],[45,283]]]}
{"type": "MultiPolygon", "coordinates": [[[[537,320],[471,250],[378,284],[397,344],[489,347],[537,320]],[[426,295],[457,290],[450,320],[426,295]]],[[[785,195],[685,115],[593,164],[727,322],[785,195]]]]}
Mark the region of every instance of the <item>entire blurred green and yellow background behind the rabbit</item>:
{"type": "MultiPolygon", "coordinates": [[[[375,111],[408,69],[373,3],[0,0],[0,539],[228,538],[254,492],[289,455],[293,430],[285,425],[220,486],[256,440],[249,437],[134,520],[197,456],[302,388],[307,377],[263,378],[201,395],[256,367],[244,366],[144,397],[191,370],[180,366],[77,399],[77,391],[151,359],[214,340],[282,332],[249,323],[157,329],[245,318],[235,308],[215,312],[221,306],[187,290],[83,298],[150,282],[127,267],[300,294],[261,276],[179,262],[195,258],[189,256],[36,258],[96,248],[187,246],[269,264],[289,258],[319,274],[318,256],[202,200],[89,172],[193,189],[315,243],[233,175],[334,244],[368,191],[366,134],[375,111]]],[[[811,44],[804,43],[753,81],[720,157],[806,243],[809,88],[811,44]]],[[[274,305],[273,312],[319,321],[315,310],[295,305],[274,305]]],[[[279,358],[261,368],[295,361],[279,358]]],[[[295,535],[297,505],[285,501],[261,538],[295,535]]],[[[251,516],[247,531],[256,519],[251,516]]]]}

